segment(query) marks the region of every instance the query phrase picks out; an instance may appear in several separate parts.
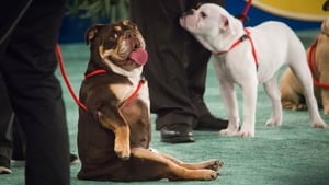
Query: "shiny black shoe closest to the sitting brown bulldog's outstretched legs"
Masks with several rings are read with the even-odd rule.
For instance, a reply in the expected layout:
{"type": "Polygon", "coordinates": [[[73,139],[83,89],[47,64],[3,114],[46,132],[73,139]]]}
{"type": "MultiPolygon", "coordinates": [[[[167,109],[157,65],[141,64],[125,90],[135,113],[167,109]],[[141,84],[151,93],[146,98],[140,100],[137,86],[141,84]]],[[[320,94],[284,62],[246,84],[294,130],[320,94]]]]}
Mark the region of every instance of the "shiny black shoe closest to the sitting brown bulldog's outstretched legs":
{"type": "Polygon", "coordinates": [[[175,127],[161,128],[161,141],[169,143],[194,142],[192,128],[179,125],[181,124],[175,124],[175,127]]]}

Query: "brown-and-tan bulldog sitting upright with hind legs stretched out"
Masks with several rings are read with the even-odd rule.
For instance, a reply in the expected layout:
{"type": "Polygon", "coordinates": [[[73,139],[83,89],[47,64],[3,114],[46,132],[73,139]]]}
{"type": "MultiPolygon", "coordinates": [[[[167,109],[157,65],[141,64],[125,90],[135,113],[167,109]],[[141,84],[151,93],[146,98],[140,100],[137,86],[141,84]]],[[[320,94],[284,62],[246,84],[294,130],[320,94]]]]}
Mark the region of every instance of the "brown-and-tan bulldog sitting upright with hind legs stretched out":
{"type": "Polygon", "coordinates": [[[80,89],[80,180],[215,180],[222,162],[183,163],[149,148],[149,96],[140,78],[145,43],[129,21],[87,32],[91,58],[80,89]]]}

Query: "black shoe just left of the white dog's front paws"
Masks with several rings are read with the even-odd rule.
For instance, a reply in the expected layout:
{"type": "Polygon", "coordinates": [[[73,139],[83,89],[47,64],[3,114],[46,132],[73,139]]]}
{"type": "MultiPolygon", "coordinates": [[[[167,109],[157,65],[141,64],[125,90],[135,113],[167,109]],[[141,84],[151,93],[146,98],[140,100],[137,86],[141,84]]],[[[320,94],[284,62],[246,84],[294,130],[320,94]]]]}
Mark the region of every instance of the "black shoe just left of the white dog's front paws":
{"type": "Polygon", "coordinates": [[[227,128],[228,120],[216,118],[213,115],[208,114],[205,116],[202,116],[197,120],[197,125],[194,128],[194,130],[222,130],[227,128]]]}

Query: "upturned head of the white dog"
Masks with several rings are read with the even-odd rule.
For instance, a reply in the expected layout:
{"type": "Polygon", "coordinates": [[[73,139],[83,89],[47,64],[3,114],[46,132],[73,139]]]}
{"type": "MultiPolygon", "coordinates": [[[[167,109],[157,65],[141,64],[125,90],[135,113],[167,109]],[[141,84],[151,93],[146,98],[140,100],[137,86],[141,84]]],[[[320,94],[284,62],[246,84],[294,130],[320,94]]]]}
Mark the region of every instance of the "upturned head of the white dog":
{"type": "Polygon", "coordinates": [[[185,12],[180,18],[180,24],[194,35],[215,36],[228,28],[229,16],[220,7],[205,3],[196,10],[185,12]]]}

